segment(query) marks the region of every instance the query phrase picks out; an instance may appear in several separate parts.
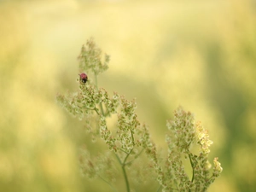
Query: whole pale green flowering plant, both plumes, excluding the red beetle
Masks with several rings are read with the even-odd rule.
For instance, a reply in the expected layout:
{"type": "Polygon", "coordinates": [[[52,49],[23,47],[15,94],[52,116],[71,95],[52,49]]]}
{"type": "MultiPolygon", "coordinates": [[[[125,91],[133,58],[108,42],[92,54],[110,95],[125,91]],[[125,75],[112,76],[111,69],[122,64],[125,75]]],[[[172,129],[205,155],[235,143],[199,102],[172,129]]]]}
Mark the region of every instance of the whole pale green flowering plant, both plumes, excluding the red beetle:
{"type": "MultiPolygon", "coordinates": [[[[108,69],[109,56],[106,55],[104,61],[101,57],[101,49],[96,47],[93,39],[88,40],[79,55],[79,71],[89,72],[97,79],[100,73],[108,69]]],[[[101,137],[107,144],[108,149],[113,151],[113,155],[109,155],[107,150],[101,156],[90,158],[90,151],[84,149],[80,158],[84,175],[90,178],[100,177],[110,185],[113,191],[118,191],[111,183],[111,181],[117,179],[114,176],[119,175],[116,173],[116,170],[118,170],[116,165],[118,164],[125,177],[126,191],[130,192],[132,190],[129,182],[131,178],[128,177],[130,175],[128,172],[130,170],[131,172],[132,170],[143,172],[144,167],[133,166],[133,162],[141,159],[140,156],[143,153],[147,154],[148,160],[145,159],[141,163],[144,166],[148,164],[147,169],[154,170],[156,175],[148,174],[147,177],[155,177],[155,181],[159,182],[160,187],[157,191],[160,191],[160,189],[162,191],[207,191],[209,185],[222,172],[218,158],[215,158],[213,172],[211,173],[208,154],[212,141],[209,140],[207,131],[204,130],[200,122],[195,125],[192,113],[183,111],[181,107],[175,111],[175,119],[167,123],[170,130],[170,134],[166,137],[169,152],[168,157],[164,160],[166,164],[163,166],[161,165],[162,158],[152,141],[147,125],[141,125],[137,119],[137,113],[135,113],[137,104],[134,100],[128,101],[125,96],[119,96],[115,92],[111,97],[107,90],[97,88],[97,80],[95,84],[91,80],[86,83],[80,77],[79,92],[67,96],[58,95],[57,101],[69,113],[81,120],[85,119],[84,126],[95,132],[93,141],[95,141],[95,137],[101,137]],[[107,125],[107,119],[112,118],[113,115],[116,115],[117,122],[111,128],[107,125]],[[190,150],[194,143],[200,145],[198,154],[193,154],[190,150]],[[113,156],[117,159],[115,162],[113,156]],[[185,172],[183,156],[189,158],[192,167],[191,179],[185,172]],[[150,163],[152,166],[150,166],[150,163]],[[129,166],[128,171],[127,166],[129,166]]],[[[94,143],[94,145],[96,144],[94,143]]],[[[95,149],[99,150],[97,147],[95,149]]],[[[137,180],[137,178],[133,178],[133,180],[137,180]]],[[[124,191],[124,189],[121,190],[124,191]]],[[[136,190],[133,189],[132,191],[136,190]]],[[[152,191],[155,191],[155,189],[152,191]]]]}

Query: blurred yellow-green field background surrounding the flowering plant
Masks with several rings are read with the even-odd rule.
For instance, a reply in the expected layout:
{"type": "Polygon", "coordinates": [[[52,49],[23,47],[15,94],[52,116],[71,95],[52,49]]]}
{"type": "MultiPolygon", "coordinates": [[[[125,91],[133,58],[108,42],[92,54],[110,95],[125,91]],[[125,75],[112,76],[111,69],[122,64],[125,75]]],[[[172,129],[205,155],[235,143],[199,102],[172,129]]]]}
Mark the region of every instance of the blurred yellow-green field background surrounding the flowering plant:
{"type": "Polygon", "coordinates": [[[90,37],[111,55],[99,86],[137,97],[155,143],[182,105],[224,167],[209,191],[255,191],[255,1],[2,0],[0,13],[1,191],[108,190],[80,177],[83,123],[55,102],[78,89],[90,37]]]}

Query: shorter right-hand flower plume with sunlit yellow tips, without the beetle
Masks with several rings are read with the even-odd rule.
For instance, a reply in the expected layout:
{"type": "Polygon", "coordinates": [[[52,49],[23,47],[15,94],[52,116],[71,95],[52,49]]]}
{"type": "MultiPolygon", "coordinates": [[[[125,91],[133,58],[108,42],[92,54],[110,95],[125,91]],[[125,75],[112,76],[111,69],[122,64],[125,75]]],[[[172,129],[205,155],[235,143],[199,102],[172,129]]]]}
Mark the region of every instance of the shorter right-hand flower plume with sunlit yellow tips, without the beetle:
{"type": "Polygon", "coordinates": [[[210,177],[211,164],[208,161],[210,145],[207,131],[202,127],[201,122],[194,123],[194,116],[190,112],[183,111],[183,108],[177,108],[174,113],[174,120],[167,122],[167,127],[171,131],[166,137],[169,145],[168,168],[172,172],[172,177],[176,180],[179,191],[206,191],[209,185],[222,172],[222,167],[214,159],[214,168],[210,177]],[[192,143],[200,145],[200,153],[192,154],[189,147],[192,143]],[[192,178],[185,172],[183,166],[183,155],[189,157],[192,167],[192,178]]]}

